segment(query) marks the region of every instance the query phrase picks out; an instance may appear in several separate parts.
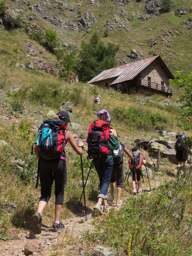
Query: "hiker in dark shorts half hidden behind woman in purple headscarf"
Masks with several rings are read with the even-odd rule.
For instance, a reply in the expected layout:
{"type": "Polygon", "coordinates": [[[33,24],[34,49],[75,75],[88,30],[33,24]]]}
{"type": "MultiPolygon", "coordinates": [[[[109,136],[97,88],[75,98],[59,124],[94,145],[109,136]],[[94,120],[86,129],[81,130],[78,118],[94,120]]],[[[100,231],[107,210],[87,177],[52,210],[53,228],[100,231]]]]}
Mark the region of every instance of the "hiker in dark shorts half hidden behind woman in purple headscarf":
{"type": "Polygon", "coordinates": [[[134,158],[129,152],[129,150],[125,147],[125,145],[123,145],[121,142],[118,141],[116,136],[110,135],[109,144],[117,145],[118,149],[113,150],[113,170],[111,174],[110,197],[108,198],[108,201],[113,202],[114,200],[114,188],[115,188],[115,182],[117,182],[116,206],[121,206],[122,205],[121,193],[122,193],[122,188],[124,187],[123,185],[123,151],[132,160],[134,160],[134,158]]]}

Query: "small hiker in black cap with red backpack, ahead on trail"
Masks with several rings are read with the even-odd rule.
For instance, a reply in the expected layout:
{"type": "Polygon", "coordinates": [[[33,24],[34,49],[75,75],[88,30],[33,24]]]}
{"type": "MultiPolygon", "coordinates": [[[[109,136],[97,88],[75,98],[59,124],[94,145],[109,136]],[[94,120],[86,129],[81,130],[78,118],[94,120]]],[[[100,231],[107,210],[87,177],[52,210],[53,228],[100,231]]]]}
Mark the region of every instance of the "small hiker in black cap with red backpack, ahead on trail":
{"type": "Polygon", "coordinates": [[[132,172],[132,177],[133,177],[133,182],[132,182],[133,194],[136,195],[136,193],[139,194],[142,192],[141,168],[142,168],[142,164],[146,164],[146,159],[143,158],[138,147],[133,147],[131,151],[132,151],[132,156],[134,158],[134,161],[129,159],[129,168],[132,172]]]}

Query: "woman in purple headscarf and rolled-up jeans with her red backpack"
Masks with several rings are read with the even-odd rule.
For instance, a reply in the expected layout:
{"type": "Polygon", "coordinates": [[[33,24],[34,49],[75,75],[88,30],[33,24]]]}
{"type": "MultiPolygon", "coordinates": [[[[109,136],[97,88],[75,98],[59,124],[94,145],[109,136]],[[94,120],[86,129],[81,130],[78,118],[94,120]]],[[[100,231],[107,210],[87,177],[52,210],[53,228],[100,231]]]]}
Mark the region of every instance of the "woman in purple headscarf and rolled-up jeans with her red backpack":
{"type": "Polygon", "coordinates": [[[107,110],[99,111],[97,116],[98,120],[89,126],[87,143],[88,157],[93,158],[93,163],[100,180],[98,203],[93,209],[98,210],[100,214],[104,214],[110,208],[107,204],[107,191],[113,169],[113,149],[109,145],[109,139],[110,135],[117,136],[117,133],[114,129],[110,128],[110,115],[107,110]]]}

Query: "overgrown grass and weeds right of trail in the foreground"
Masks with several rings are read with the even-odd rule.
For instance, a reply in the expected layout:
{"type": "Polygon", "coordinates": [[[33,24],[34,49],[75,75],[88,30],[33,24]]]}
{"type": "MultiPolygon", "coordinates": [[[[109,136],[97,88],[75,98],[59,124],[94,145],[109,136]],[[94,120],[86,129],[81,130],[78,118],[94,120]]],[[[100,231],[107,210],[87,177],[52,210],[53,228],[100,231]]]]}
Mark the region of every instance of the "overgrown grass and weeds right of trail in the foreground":
{"type": "Polygon", "coordinates": [[[111,210],[95,222],[94,231],[86,233],[88,242],[114,247],[117,255],[191,255],[192,236],[187,232],[192,223],[191,193],[189,171],[179,183],[167,183],[150,195],[130,197],[119,211],[111,210]]]}

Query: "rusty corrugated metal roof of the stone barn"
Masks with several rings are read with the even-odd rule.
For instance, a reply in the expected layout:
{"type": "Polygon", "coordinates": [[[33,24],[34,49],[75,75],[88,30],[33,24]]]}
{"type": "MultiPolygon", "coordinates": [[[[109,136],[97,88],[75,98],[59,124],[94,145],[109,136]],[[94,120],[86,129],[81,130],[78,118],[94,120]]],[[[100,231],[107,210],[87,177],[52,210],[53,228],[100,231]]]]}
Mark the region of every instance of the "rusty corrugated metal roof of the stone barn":
{"type": "MultiPolygon", "coordinates": [[[[153,57],[148,58],[148,59],[143,59],[143,60],[140,60],[140,61],[128,63],[126,65],[122,65],[122,66],[119,66],[119,67],[116,67],[116,68],[111,68],[111,69],[104,70],[100,74],[98,74],[96,77],[91,79],[88,83],[94,83],[94,82],[97,82],[97,81],[101,81],[101,80],[105,80],[105,79],[109,79],[109,78],[113,78],[113,77],[114,78],[117,77],[117,78],[111,83],[111,85],[117,84],[117,83],[122,83],[122,82],[128,81],[128,80],[132,80],[144,68],[146,68],[149,64],[151,64],[157,58],[161,59],[161,57],[159,55],[157,55],[157,56],[153,56],[153,57]]],[[[165,67],[167,68],[166,65],[165,65],[165,67]]],[[[171,72],[169,71],[168,68],[167,68],[167,72],[170,73],[170,78],[172,78],[173,75],[171,74],[171,72]]]]}

